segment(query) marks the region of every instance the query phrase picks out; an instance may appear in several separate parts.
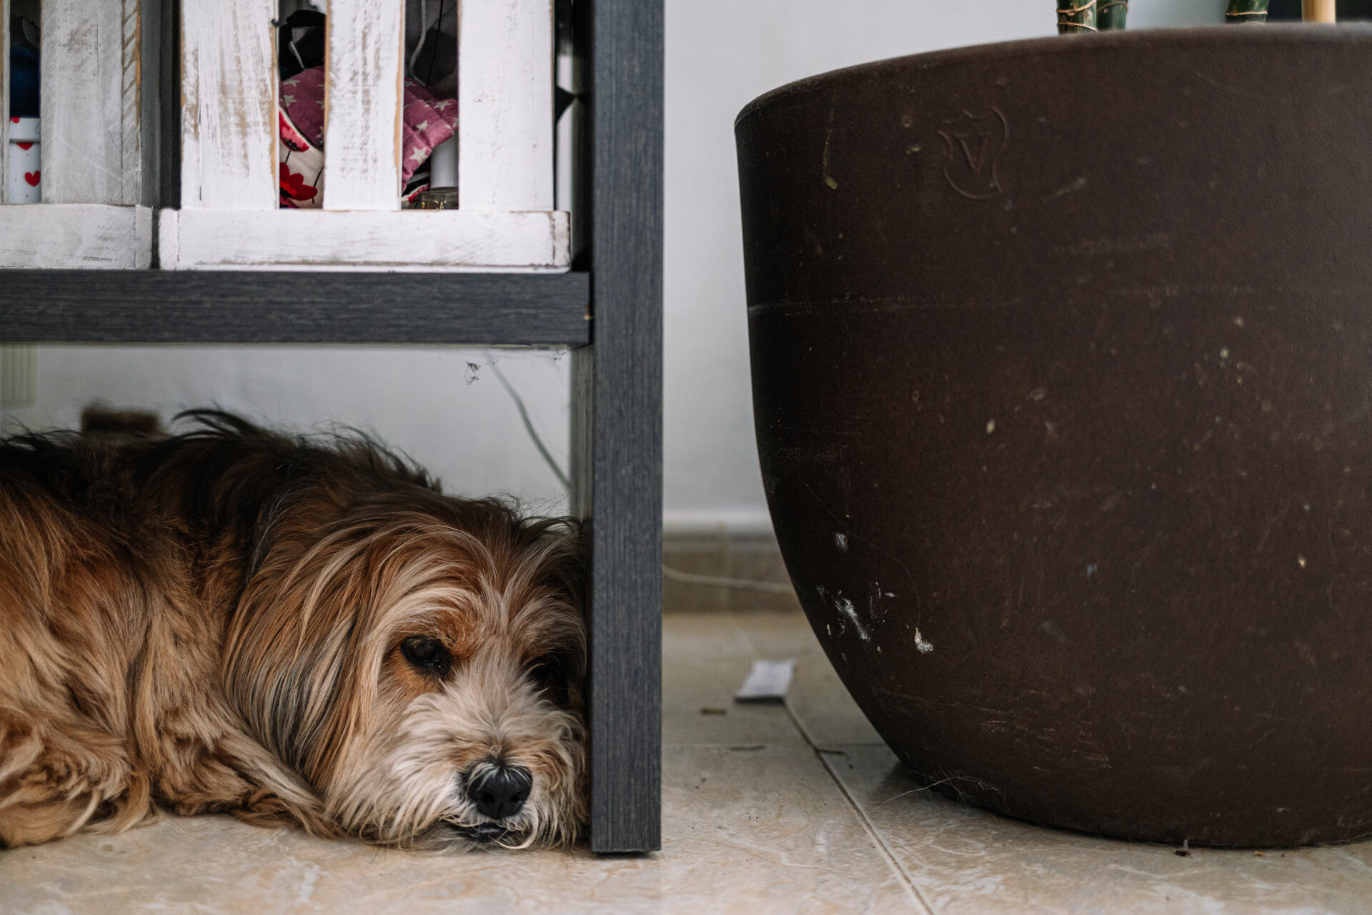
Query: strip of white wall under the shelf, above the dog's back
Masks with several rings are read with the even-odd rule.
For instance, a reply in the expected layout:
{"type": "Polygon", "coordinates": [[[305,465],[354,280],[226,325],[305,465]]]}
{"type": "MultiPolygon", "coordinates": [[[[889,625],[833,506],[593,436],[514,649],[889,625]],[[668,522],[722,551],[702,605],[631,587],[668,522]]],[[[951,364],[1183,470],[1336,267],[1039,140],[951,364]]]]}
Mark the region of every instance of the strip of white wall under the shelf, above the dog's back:
{"type": "Polygon", "coordinates": [[[156,410],[221,406],[272,425],[375,432],[468,495],[506,492],[560,513],[565,490],[539,458],[495,377],[495,359],[525,396],[561,468],[568,455],[565,351],[391,347],[40,347],[38,401],[4,428],[80,423],[89,402],[156,410]]]}

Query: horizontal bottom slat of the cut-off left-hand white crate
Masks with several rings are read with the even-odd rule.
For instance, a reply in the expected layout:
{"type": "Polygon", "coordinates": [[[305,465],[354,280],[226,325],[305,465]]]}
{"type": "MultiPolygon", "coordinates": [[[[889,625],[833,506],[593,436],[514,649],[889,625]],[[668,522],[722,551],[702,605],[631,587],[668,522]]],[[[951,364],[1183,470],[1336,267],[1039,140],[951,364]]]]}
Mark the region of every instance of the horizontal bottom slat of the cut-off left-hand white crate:
{"type": "Polygon", "coordinates": [[[143,269],[152,210],[102,203],[37,203],[0,211],[0,268],[143,269]]]}

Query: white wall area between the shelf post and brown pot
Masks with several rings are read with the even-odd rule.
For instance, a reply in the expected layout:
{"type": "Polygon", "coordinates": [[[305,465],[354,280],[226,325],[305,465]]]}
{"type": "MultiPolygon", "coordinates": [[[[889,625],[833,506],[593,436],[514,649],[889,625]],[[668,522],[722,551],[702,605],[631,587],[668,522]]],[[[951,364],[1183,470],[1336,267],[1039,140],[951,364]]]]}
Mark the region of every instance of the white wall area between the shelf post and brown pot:
{"type": "MultiPolygon", "coordinates": [[[[734,117],[867,60],[1056,32],[1052,0],[667,0],[668,528],[770,530],[753,443],[734,117]]],[[[1222,21],[1135,0],[1131,27],[1222,21]]],[[[1066,40],[1066,38],[1065,38],[1066,40]]]]}

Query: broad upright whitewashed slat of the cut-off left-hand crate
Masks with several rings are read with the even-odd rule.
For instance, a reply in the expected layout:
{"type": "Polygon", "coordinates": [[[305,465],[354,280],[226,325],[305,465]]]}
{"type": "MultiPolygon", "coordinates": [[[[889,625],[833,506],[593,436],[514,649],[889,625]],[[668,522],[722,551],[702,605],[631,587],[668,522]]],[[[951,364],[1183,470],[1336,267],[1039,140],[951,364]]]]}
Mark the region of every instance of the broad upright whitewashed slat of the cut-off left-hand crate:
{"type": "Polygon", "coordinates": [[[137,34],[139,3],[43,0],[41,10],[43,199],[137,203],[141,49],[126,52],[125,34],[137,34]]]}

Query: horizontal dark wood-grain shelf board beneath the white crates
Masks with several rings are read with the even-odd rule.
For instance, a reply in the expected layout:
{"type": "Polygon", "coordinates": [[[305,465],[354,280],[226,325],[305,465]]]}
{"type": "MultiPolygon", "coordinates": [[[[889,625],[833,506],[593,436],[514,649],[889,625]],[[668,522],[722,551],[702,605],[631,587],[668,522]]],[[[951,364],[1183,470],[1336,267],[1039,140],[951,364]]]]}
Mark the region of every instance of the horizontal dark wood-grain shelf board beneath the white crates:
{"type": "Polygon", "coordinates": [[[0,270],[4,343],[584,346],[584,273],[0,270]]]}

